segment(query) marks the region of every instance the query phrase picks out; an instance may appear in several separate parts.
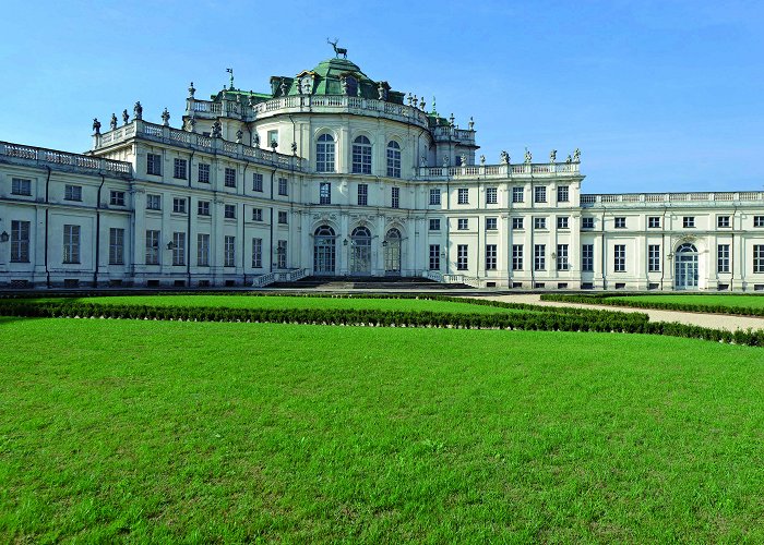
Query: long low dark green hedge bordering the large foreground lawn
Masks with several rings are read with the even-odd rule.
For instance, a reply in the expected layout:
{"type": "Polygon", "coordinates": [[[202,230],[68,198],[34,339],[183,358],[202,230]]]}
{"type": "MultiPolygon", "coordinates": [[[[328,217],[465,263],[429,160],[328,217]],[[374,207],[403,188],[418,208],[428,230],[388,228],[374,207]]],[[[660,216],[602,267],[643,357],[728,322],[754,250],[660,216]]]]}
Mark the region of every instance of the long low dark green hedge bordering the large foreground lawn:
{"type": "MultiPolygon", "coordinates": [[[[530,305],[526,305],[530,306],[530,305]]],[[[533,307],[536,308],[536,307],[533,307]]],[[[764,331],[723,331],[678,323],[650,323],[641,313],[512,313],[463,314],[430,311],[339,308],[215,308],[192,306],[97,305],[0,301],[0,315],[23,317],[122,318],[189,322],[251,322],[372,327],[445,327],[542,331],[599,331],[667,335],[764,346],[764,331]]]]}

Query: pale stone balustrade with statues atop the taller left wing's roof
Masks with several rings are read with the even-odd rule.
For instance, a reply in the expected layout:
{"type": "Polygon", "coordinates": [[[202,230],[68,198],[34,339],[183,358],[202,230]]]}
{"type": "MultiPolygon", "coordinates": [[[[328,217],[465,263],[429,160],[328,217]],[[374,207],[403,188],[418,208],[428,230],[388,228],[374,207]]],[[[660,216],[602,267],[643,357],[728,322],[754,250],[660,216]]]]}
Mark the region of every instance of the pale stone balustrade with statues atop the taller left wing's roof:
{"type": "Polygon", "coordinates": [[[302,160],[299,157],[284,155],[259,147],[213,138],[202,134],[172,129],[167,125],[133,120],[127,125],[95,136],[95,149],[126,142],[130,138],[142,138],[172,146],[188,147],[200,152],[217,153],[228,157],[276,166],[287,170],[301,170],[302,160]]]}

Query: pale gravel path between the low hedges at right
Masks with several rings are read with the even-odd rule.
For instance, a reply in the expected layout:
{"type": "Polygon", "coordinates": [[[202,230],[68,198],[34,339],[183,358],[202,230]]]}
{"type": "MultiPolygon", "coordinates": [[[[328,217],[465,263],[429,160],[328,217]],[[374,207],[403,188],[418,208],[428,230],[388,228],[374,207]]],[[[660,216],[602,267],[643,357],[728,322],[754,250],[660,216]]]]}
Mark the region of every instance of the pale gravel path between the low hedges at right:
{"type": "Polygon", "coordinates": [[[517,295],[489,295],[475,294],[475,299],[488,299],[491,301],[503,301],[505,303],[525,303],[541,306],[573,306],[577,308],[598,308],[601,311],[641,312],[649,316],[650,322],[679,322],[693,326],[711,327],[713,329],[764,329],[764,318],[750,316],[732,316],[725,314],[703,314],[679,311],[658,311],[653,308],[630,308],[628,306],[609,305],[585,305],[581,303],[561,303],[558,301],[541,301],[536,293],[517,295]]]}

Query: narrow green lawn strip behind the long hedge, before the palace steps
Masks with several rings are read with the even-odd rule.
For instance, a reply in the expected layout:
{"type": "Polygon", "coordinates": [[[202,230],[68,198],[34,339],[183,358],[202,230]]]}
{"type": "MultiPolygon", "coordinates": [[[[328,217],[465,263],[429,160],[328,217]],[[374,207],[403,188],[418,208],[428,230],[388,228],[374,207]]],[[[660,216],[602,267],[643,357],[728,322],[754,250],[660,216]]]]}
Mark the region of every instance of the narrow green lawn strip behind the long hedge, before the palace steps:
{"type": "Polygon", "coordinates": [[[515,311],[497,306],[430,301],[426,299],[363,299],[311,296],[251,296],[251,295],[119,295],[89,298],[40,298],[31,301],[83,302],[95,304],[131,304],[151,306],[216,306],[227,308],[358,308],[382,311],[431,311],[451,313],[497,314],[515,311]]]}

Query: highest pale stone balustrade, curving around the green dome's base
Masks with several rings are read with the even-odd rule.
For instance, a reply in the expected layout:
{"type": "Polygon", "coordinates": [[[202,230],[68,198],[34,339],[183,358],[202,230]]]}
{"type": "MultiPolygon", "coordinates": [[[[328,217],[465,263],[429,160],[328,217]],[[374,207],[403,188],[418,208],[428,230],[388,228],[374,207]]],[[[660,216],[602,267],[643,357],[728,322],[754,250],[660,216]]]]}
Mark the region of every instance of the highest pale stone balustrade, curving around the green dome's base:
{"type": "MultiPolygon", "coordinates": [[[[214,119],[220,116],[241,119],[242,121],[255,121],[282,113],[296,112],[325,112],[325,113],[357,113],[373,114],[394,121],[414,123],[428,128],[427,113],[413,106],[375,100],[371,98],[348,97],[345,95],[297,95],[272,98],[253,106],[243,105],[235,100],[213,102],[188,98],[186,114],[195,118],[214,119]]],[[[449,129],[449,128],[443,128],[449,129]]],[[[453,129],[453,128],[451,128],[453,129]]],[[[475,141],[474,131],[458,131],[458,140],[475,141]]]]}

